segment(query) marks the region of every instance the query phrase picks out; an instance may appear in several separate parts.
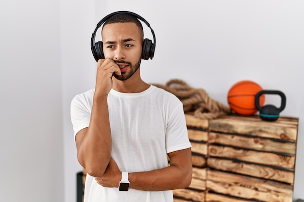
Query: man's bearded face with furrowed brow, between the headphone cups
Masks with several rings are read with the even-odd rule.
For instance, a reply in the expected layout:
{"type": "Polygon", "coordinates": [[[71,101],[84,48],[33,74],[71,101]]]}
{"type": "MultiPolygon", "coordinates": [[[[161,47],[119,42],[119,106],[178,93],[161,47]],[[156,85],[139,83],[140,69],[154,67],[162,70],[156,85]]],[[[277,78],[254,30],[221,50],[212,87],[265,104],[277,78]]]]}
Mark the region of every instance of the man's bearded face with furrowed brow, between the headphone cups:
{"type": "Polygon", "coordinates": [[[112,23],[103,27],[103,53],[105,58],[114,60],[121,75],[113,74],[118,80],[130,78],[140,66],[142,35],[135,23],[112,23]]]}

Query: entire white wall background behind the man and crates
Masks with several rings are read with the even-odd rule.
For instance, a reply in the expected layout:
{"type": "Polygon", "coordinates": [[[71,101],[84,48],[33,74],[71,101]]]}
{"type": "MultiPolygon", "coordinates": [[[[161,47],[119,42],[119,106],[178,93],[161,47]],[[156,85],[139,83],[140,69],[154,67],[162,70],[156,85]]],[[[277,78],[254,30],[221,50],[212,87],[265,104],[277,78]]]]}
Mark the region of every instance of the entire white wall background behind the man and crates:
{"type": "MultiPolygon", "coordinates": [[[[304,1],[0,4],[2,201],[76,202],[76,172],[81,167],[69,105],[75,94],[94,87],[91,33],[102,17],[118,10],[143,16],[155,31],[155,57],[143,61],[141,68],[147,82],[180,78],[225,104],[229,88],[244,79],[286,94],[281,115],[300,117],[294,198],[304,199],[304,1]]],[[[145,33],[152,38],[149,29],[145,33]]]]}

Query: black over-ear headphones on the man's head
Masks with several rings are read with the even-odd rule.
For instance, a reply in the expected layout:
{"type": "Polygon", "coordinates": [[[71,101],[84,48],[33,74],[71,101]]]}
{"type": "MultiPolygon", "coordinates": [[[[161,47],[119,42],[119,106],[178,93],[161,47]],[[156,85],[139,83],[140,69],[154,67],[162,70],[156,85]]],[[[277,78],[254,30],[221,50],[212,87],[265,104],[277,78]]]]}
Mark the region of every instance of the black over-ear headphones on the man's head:
{"type": "Polygon", "coordinates": [[[153,35],[154,43],[152,43],[152,41],[150,39],[144,39],[144,43],[142,46],[142,52],[141,52],[141,59],[148,60],[149,58],[151,58],[151,60],[152,60],[152,58],[154,56],[154,51],[155,51],[155,34],[154,34],[154,31],[152,30],[152,28],[150,27],[149,22],[147,20],[145,20],[143,17],[141,17],[135,13],[132,13],[129,11],[117,11],[117,12],[111,13],[111,14],[105,16],[104,18],[102,18],[101,21],[97,24],[97,27],[95,28],[95,30],[92,34],[91,50],[92,50],[92,53],[93,53],[93,56],[94,56],[96,62],[98,62],[99,59],[104,59],[104,54],[103,54],[103,50],[102,50],[102,47],[103,47],[102,41],[95,43],[96,31],[101,27],[101,25],[103,23],[105,23],[105,21],[109,17],[114,16],[119,13],[126,13],[126,14],[133,15],[137,19],[140,19],[141,21],[143,21],[150,28],[152,35],[153,35]]]}

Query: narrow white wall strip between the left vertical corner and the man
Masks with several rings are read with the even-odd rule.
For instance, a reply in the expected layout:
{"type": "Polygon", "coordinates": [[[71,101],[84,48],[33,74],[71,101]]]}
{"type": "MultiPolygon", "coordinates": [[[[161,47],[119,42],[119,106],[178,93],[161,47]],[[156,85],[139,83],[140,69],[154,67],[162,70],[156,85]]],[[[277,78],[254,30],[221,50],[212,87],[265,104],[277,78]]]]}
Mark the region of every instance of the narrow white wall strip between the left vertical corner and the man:
{"type": "Polygon", "coordinates": [[[76,173],[82,171],[82,167],[77,161],[70,102],[76,94],[94,88],[96,62],[89,42],[96,23],[93,0],[60,2],[65,202],[76,202],[76,173]]]}

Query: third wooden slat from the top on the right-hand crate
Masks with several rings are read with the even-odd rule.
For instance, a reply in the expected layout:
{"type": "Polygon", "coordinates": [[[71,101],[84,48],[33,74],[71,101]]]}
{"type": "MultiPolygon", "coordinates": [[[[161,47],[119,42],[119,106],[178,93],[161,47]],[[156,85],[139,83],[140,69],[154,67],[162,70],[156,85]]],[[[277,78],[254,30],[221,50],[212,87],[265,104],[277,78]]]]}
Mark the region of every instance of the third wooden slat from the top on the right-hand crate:
{"type": "Polygon", "coordinates": [[[277,155],[267,152],[256,152],[251,150],[236,149],[227,146],[208,146],[209,156],[225,157],[246,162],[265,164],[294,170],[295,157],[277,155]]]}

